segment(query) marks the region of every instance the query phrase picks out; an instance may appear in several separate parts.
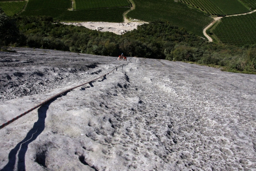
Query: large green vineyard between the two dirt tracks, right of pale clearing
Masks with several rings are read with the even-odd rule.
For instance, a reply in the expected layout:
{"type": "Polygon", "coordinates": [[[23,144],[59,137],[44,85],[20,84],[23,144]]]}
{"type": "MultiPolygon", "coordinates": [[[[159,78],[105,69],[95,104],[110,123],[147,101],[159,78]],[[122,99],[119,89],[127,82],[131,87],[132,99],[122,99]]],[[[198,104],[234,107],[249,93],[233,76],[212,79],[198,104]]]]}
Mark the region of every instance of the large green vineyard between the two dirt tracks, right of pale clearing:
{"type": "Polygon", "coordinates": [[[180,2],[166,0],[134,0],[135,10],[127,14],[128,18],[142,21],[161,19],[175,26],[184,27],[201,37],[203,29],[212,22],[212,18],[195,9],[188,8],[180,2]]]}

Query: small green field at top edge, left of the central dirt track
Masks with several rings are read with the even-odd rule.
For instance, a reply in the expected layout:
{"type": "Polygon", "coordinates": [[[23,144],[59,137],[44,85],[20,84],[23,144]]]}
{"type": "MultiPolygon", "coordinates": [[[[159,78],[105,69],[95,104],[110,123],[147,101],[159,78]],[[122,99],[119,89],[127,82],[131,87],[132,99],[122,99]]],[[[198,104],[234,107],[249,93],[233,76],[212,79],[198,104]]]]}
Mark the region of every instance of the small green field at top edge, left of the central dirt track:
{"type": "Polygon", "coordinates": [[[128,0],[75,0],[76,10],[88,8],[111,8],[118,6],[131,6],[128,0]]]}

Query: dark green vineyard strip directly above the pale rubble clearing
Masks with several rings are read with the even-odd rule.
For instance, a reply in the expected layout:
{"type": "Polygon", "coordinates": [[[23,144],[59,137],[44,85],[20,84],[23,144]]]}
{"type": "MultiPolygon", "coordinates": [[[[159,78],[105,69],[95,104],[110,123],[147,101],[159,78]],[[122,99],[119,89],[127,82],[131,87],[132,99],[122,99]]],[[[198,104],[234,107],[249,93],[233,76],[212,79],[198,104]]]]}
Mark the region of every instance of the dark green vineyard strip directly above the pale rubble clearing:
{"type": "Polygon", "coordinates": [[[58,17],[61,21],[105,21],[105,22],[123,22],[123,13],[130,8],[106,8],[104,10],[75,10],[65,11],[58,17]]]}

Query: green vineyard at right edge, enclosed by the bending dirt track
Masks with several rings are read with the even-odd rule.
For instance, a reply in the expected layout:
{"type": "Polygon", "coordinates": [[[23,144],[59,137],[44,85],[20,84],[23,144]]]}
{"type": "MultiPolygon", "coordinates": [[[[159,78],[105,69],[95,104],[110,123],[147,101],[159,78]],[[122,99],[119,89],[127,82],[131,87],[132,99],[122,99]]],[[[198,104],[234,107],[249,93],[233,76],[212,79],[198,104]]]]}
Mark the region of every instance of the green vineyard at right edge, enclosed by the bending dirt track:
{"type": "Polygon", "coordinates": [[[256,13],[224,17],[213,33],[225,44],[256,44],[256,13]]]}

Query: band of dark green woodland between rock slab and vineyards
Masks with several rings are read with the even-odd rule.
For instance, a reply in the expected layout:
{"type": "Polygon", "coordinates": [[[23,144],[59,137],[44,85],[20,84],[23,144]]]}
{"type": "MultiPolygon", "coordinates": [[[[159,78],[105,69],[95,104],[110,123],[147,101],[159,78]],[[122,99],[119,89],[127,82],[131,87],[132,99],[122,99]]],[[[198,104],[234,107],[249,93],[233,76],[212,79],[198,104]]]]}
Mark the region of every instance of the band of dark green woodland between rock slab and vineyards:
{"type": "Polygon", "coordinates": [[[0,10],[0,47],[30,47],[93,55],[156,58],[221,68],[222,71],[256,73],[256,44],[242,47],[207,42],[173,26],[152,21],[117,35],[83,26],[64,25],[49,16],[8,17],[0,10]]]}

